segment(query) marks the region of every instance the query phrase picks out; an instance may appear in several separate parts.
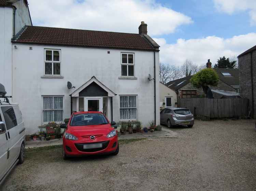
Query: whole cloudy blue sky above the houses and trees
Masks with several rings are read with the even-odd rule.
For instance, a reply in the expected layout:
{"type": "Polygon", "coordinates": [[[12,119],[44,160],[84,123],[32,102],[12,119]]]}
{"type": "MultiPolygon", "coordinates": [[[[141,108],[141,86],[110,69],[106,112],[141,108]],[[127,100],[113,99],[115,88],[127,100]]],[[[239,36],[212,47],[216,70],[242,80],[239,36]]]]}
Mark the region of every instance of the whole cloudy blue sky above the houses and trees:
{"type": "Polygon", "coordinates": [[[28,0],[33,25],[138,33],[161,46],[160,62],[202,65],[256,45],[256,0],[28,0]]]}

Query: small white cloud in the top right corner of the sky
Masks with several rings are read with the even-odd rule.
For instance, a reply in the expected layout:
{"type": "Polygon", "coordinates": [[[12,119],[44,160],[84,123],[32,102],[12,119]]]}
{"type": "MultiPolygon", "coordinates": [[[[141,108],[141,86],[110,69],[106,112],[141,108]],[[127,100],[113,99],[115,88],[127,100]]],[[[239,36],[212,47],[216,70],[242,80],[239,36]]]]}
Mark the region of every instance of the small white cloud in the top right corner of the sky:
{"type": "Polygon", "coordinates": [[[214,0],[219,11],[232,14],[236,11],[248,11],[251,25],[256,25],[256,0],[214,0]]]}

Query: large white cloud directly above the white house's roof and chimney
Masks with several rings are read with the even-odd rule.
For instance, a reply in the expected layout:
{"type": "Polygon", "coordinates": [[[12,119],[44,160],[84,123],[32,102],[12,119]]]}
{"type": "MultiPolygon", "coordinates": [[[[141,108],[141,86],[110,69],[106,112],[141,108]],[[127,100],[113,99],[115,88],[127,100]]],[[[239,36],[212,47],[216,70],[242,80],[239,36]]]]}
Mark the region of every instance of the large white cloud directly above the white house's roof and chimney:
{"type": "Polygon", "coordinates": [[[42,26],[138,33],[145,21],[152,36],[193,22],[154,0],[30,0],[29,8],[32,22],[42,26]]]}

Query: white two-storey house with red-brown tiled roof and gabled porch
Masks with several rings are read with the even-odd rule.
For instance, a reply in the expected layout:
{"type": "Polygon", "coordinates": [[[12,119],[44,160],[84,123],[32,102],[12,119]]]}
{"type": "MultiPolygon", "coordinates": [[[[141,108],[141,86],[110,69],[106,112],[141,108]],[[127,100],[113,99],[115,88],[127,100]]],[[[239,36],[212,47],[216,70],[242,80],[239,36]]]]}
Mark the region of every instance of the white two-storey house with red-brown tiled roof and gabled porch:
{"type": "Polygon", "coordinates": [[[4,37],[11,44],[5,77],[12,81],[0,83],[12,87],[8,93],[19,103],[27,134],[50,121],[61,123],[73,111],[160,124],[159,46],[147,35],[147,24],[141,22],[138,34],[24,25],[13,38],[4,37]]]}

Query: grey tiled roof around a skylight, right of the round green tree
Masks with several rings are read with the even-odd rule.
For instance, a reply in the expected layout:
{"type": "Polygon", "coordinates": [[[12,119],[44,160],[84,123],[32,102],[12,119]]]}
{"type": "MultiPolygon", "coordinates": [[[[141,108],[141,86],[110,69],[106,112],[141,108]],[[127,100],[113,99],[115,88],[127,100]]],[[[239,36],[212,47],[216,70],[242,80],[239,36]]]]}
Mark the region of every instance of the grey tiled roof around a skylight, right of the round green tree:
{"type": "Polygon", "coordinates": [[[239,86],[239,69],[237,68],[214,68],[219,80],[230,86],[239,86]],[[230,73],[231,76],[224,76],[222,73],[230,73]]]}

